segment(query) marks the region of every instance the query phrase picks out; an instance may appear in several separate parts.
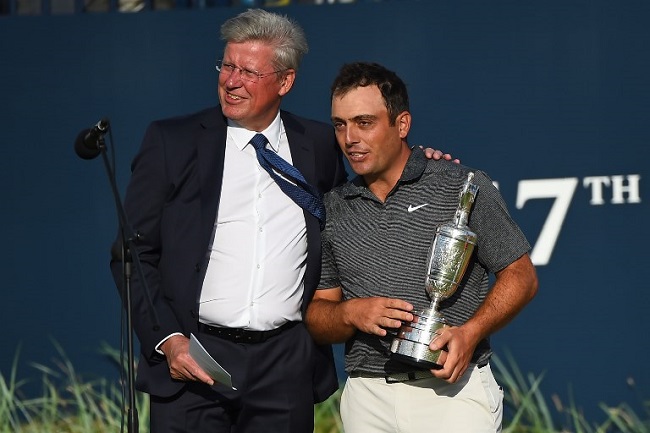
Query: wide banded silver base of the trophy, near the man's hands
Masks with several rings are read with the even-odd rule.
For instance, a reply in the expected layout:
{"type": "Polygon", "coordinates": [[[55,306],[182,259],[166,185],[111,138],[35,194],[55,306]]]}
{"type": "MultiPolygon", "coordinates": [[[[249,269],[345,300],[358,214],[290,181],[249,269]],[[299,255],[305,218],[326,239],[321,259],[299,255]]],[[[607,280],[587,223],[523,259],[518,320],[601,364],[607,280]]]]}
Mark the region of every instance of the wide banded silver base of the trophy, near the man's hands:
{"type": "Polygon", "coordinates": [[[418,368],[442,368],[438,364],[441,351],[430,350],[429,343],[446,326],[445,319],[432,309],[415,312],[413,315],[412,322],[399,328],[390,347],[391,358],[418,368]]]}

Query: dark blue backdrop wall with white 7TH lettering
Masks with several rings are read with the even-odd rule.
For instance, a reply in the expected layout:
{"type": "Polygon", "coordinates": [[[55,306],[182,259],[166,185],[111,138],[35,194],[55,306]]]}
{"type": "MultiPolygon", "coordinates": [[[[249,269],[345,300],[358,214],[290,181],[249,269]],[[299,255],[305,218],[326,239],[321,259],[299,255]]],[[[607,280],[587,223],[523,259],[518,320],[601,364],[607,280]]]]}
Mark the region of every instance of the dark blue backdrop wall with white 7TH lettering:
{"type": "MultiPolygon", "coordinates": [[[[240,10],[0,17],[0,371],[58,341],[80,373],[116,375],[117,218],[104,167],[73,152],[107,116],[121,192],[147,123],[216,103],[219,25],[240,10]]],[[[284,107],[327,121],[347,61],[397,71],[412,144],[484,169],[534,245],[534,302],[494,338],[542,389],[587,413],[650,398],[644,257],[650,209],[650,3],[388,1],[277,9],[311,51],[284,107]],[[433,138],[432,138],[433,137],[433,138]],[[631,386],[630,384],[634,384],[631,386]]]]}

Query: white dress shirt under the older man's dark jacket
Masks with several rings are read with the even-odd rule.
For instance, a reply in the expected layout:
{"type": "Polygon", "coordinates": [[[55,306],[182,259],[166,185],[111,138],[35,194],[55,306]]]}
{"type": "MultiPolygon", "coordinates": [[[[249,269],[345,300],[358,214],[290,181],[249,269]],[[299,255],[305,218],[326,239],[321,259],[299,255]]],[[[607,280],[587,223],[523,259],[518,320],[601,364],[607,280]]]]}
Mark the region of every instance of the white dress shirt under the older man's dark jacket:
{"type": "MultiPolygon", "coordinates": [[[[280,114],[262,134],[292,162],[280,114]]],[[[252,330],[301,320],[307,229],[302,209],[260,166],[256,133],[229,122],[214,242],[201,290],[202,323],[252,330]]]]}

